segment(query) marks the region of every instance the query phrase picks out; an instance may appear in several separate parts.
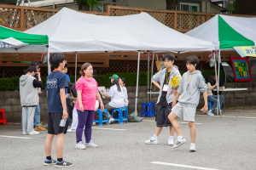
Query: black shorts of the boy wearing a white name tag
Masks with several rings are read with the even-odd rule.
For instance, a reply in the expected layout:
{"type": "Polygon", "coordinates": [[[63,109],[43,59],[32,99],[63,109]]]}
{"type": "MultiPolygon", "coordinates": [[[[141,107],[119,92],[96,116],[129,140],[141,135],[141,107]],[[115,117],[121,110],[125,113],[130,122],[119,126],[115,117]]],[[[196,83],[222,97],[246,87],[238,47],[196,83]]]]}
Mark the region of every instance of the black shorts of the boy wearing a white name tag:
{"type": "Polygon", "coordinates": [[[170,127],[172,123],[168,119],[168,115],[172,111],[172,105],[158,106],[155,122],[157,127],[170,127]]]}

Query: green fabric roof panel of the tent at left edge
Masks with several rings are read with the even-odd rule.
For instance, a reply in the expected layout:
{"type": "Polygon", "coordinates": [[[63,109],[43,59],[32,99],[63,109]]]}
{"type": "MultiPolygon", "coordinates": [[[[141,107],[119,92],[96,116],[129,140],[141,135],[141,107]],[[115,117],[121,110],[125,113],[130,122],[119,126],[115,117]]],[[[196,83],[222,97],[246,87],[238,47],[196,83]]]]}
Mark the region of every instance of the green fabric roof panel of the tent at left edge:
{"type": "Polygon", "coordinates": [[[13,37],[20,42],[28,45],[46,45],[48,44],[48,37],[43,35],[33,35],[21,31],[15,31],[4,26],[0,26],[0,39],[13,37]]]}

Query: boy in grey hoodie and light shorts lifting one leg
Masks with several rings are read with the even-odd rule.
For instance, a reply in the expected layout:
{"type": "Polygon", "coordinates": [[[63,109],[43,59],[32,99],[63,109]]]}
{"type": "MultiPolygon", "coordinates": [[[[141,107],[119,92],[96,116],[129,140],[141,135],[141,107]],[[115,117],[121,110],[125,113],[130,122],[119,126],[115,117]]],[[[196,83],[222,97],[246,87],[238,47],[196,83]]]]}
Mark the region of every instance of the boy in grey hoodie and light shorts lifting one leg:
{"type": "Polygon", "coordinates": [[[177,95],[172,102],[172,111],[168,118],[172,122],[172,126],[177,133],[177,140],[172,148],[177,148],[186,142],[183,138],[179,124],[177,122],[177,116],[182,118],[183,121],[189,122],[191,144],[189,151],[195,151],[195,112],[196,107],[199,104],[200,92],[203,93],[205,106],[204,112],[207,112],[207,84],[205,79],[201,75],[201,71],[196,71],[195,66],[199,64],[199,60],[195,55],[190,55],[186,59],[186,66],[188,71],[183,74],[179,88],[177,89],[177,95]],[[178,98],[178,103],[176,101],[178,98]]]}

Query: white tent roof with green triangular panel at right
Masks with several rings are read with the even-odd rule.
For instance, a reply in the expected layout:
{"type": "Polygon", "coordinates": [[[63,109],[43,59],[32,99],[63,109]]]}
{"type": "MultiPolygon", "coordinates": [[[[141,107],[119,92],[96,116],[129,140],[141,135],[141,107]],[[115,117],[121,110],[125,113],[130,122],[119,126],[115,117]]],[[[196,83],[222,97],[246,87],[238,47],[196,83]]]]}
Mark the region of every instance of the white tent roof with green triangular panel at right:
{"type": "Polygon", "coordinates": [[[217,14],[211,20],[186,33],[191,37],[214,42],[220,49],[256,44],[256,18],[217,14]]]}

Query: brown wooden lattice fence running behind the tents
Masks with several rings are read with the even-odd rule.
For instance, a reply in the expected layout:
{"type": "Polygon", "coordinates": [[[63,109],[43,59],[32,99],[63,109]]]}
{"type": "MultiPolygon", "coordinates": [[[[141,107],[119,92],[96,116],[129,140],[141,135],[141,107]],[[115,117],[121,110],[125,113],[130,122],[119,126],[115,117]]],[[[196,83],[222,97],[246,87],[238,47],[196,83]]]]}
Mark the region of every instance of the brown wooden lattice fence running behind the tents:
{"type": "MultiPolygon", "coordinates": [[[[49,17],[56,14],[60,9],[53,8],[31,8],[21,7],[14,5],[0,4],[0,24],[6,25],[9,28],[17,31],[26,31],[27,29],[37,26],[49,19],[49,17]]],[[[139,14],[142,12],[150,14],[155,20],[160,23],[171,27],[177,31],[186,32],[200,26],[207,20],[210,20],[216,14],[211,13],[197,13],[197,12],[184,12],[174,10],[157,10],[149,8],[131,8],[121,6],[108,6],[106,13],[101,12],[87,12],[80,11],[88,14],[108,15],[108,16],[121,16],[128,14],[139,14]]],[[[253,17],[251,15],[236,15],[243,17],[253,17]]],[[[186,67],[183,63],[185,57],[190,54],[195,54],[199,57],[201,63],[199,68],[201,70],[211,69],[206,63],[207,53],[185,53],[175,54],[177,56],[176,64],[181,71],[185,71],[186,67]]],[[[29,62],[33,60],[41,60],[42,54],[0,54],[0,77],[13,77],[20,76],[22,70],[29,66],[29,62]]],[[[74,74],[74,54],[65,54],[70,68],[70,74],[74,74]]],[[[99,74],[113,73],[113,72],[131,72],[137,71],[137,53],[113,53],[113,54],[79,54],[80,60],[78,67],[84,62],[91,62],[99,72],[99,74]]],[[[159,54],[162,56],[162,54],[159,54]]],[[[230,56],[238,57],[236,52],[222,53],[222,60],[229,61],[230,56]]],[[[141,71],[147,71],[147,57],[141,58],[142,64],[140,65],[141,71]]],[[[47,65],[42,65],[43,75],[47,74],[47,65]]],[[[156,68],[154,68],[156,71],[156,68]]]]}

